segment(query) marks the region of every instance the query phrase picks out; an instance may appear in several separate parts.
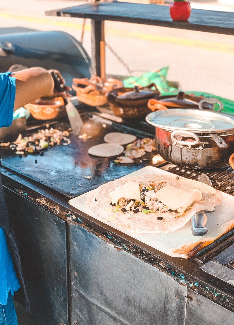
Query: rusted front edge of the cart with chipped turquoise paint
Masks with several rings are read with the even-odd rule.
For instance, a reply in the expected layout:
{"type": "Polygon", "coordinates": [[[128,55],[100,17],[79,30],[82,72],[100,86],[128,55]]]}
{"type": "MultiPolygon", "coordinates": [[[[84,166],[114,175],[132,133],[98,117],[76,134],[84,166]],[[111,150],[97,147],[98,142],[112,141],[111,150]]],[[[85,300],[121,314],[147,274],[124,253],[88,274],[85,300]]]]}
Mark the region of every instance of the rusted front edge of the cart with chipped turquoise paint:
{"type": "Polygon", "coordinates": [[[17,173],[2,168],[3,184],[25,199],[37,204],[62,220],[79,224],[87,231],[114,245],[118,250],[127,251],[143,262],[149,263],[173,277],[181,285],[203,295],[228,310],[234,312],[234,293],[232,286],[201,271],[199,266],[187,259],[170,257],[143,244],[120,231],[80,212],[67,203],[66,196],[48,190],[35,181],[28,180],[17,173]],[[211,285],[212,282],[212,285],[211,285]]]}

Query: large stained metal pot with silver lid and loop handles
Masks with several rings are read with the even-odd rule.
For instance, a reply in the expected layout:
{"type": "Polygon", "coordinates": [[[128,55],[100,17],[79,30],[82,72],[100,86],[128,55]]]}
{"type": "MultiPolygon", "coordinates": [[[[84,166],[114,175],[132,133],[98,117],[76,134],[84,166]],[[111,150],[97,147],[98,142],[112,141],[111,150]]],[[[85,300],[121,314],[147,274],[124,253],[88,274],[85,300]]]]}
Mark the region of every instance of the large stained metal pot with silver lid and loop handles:
{"type": "Polygon", "coordinates": [[[234,119],[212,111],[173,109],[150,113],[156,150],[168,162],[192,169],[228,165],[234,151],[234,119]]]}

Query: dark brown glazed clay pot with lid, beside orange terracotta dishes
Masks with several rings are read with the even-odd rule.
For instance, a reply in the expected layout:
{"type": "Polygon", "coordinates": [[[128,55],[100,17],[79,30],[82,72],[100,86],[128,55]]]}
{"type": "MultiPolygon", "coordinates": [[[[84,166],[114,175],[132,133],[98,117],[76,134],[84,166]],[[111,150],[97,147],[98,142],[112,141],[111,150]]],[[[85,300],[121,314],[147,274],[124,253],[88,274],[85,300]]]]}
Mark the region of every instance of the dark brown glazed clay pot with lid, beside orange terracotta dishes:
{"type": "Polygon", "coordinates": [[[107,94],[112,112],[123,118],[142,118],[149,113],[149,98],[158,97],[160,92],[155,84],[142,88],[115,88],[107,94]],[[154,87],[155,89],[151,89],[154,87]]]}

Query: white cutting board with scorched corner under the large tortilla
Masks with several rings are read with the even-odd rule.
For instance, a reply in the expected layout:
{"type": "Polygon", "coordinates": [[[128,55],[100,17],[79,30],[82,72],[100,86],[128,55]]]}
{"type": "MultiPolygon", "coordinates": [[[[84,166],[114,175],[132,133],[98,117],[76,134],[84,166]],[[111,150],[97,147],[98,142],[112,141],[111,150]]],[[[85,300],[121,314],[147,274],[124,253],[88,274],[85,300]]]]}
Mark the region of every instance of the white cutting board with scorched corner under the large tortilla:
{"type": "MultiPolygon", "coordinates": [[[[136,175],[152,175],[165,174],[175,175],[162,169],[146,166],[122,178],[136,175]]],[[[175,175],[176,176],[176,175],[175,175]]],[[[192,235],[190,221],[182,228],[174,232],[166,234],[138,234],[128,231],[127,229],[118,227],[108,220],[103,219],[100,215],[85,206],[88,195],[87,192],[69,201],[69,204],[78,210],[92,216],[95,219],[117,229],[121,232],[139,240],[163,253],[173,257],[189,258],[193,253],[197,252],[201,247],[206,246],[222,236],[228,229],[234,227],[234,197],[220,192],[222,195],[222,203],[215,207],[215,212],[207,213],[207,229],[205,236],[196,237],[192,235]]]]}

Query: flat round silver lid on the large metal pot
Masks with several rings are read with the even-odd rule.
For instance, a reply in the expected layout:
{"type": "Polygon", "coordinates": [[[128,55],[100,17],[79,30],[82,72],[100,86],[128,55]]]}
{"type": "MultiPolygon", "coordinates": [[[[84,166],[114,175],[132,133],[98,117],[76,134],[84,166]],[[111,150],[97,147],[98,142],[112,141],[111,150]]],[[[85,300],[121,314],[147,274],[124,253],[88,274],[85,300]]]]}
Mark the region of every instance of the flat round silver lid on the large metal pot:
{"type": "Polygon", "coordinates": [[[146,117],[149,124],[166,130],[188,130],[196,133],[216,133],[234,129],[234,119],[208,110],[158,110],[146,117]]]}

